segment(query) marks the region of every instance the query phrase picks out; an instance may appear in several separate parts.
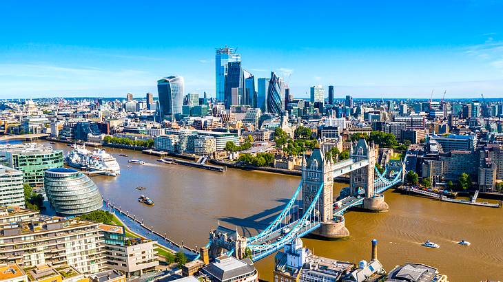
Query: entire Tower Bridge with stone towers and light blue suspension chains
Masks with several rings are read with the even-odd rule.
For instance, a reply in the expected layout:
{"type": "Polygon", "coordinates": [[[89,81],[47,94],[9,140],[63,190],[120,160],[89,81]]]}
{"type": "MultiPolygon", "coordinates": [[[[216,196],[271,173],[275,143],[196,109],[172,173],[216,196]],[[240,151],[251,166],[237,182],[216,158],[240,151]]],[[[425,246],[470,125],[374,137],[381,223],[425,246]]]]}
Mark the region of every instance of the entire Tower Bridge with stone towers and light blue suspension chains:
{"type": "Polygon", "coordinates": [[[302,160],[302,178],[289,202],[264,230],[252,237],[242,237],[238,230],[218,226],[209,235],[209,253],[243,258],[251,252],[254,261],[280,250],[285,244],[307,234],[326,239],[349,236],[344,213],[352,207],[373,212],[388,210],[382,193],[402,183],[404,164],[393,161],[383,173],[376,169],[376,149],[364,139],[350,149],[349,160],[333,162],[319,148],[308,160],[302,160]],[[349,188],[333,200],[333,178],[350,173],[349,188]]]}

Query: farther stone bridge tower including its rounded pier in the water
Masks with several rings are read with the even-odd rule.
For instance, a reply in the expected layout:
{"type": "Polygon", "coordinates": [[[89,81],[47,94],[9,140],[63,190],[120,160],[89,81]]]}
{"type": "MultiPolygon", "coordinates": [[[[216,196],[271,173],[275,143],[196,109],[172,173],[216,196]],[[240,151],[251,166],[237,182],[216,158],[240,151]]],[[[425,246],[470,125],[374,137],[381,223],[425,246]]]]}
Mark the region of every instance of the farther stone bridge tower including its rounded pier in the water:
{"type": "Polygon", "coordinates": [[[362,195],[363,208],[376,212],[387,211],[389,206],[384,202],[384,195],[376,194],[373,181],[376,174],[376,147],[360,139],[351,147],[350,157],[354,162],[368,160],[369,165],[351,172],[351,195],[362,195]]]}

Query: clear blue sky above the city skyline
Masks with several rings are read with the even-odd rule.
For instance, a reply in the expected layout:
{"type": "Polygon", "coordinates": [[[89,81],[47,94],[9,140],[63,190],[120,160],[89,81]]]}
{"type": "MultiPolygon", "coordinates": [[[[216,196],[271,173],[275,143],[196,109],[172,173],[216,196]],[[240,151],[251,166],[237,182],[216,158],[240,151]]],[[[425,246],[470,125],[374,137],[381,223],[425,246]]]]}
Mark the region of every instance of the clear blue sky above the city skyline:
{"type": "Polygon", "coordinates": [[[214,96],[214,50],[292,92],[503,97],[503,1],[0,1],[0,98],[214,96]]]}

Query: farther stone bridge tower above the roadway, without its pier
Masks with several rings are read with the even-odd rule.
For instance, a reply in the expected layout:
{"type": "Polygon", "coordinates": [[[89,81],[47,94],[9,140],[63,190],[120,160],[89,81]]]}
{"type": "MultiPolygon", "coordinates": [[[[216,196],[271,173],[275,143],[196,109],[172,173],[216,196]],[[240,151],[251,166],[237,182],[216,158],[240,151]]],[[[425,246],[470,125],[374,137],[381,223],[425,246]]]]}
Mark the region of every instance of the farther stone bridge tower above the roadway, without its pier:
{"type": "Polygon", "coordinates": [[[360,139],[351,146],[350,158],[354,162],[368,160],[369,165],[351,172],[351,194],[359,195],[365,191],[365,197],[375,195],[373,189],[374,166],[376,166],[376,148],[373,144],[367,144],[365,139],[360,139]]]}

